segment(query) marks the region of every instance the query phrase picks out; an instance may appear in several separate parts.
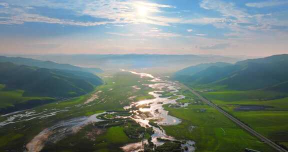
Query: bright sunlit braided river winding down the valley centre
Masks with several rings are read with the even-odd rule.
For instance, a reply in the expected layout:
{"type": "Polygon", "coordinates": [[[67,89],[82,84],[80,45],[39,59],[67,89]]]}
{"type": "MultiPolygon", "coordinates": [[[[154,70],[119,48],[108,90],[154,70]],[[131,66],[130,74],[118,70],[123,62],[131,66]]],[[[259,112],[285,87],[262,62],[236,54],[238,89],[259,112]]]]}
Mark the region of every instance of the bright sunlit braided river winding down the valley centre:
{"type": "MultiPolygon", "coordinates": [[[[175,140],[174,137],[168,136],[165,132],[164,129],[162,129],[160,126],[152,126],[149,124],[150,120],[156,120],[155,122],[158,125],[176,125],[181,123],[181,120],[177,117],[168,115],[168,111],[164,110],[163,106],[164,104],[176,104],[177,99],[184,98],[185,96],[183,95],[176,95],[177,98],[175,99],[169,99],[170,97],[159,97],[161,94],[157,92],[165,91],[165,92],[170,92],[170,93],[176,93],[178,92],[178,89],[176,88],[177,84],[172,81],[167,81],[167,80],[162,80],[158,77],[155,77],[151,74],[147,73],[137,73],[134,71],[129,71],[129,70],[123,70],[122,71],[128,71],[133,74],[140,75],[141,77],[150,77],[152,78],[150,81],[152,82],[157,82],[154,84],[148,84],[149,87],[153,88],[154,91],[149,92],[150,95],[153,95],[153,99],[146,99],[146,100],[141,100],[137,101],[135,103],[130,104],[129,106],[125,106],[124,109],[130,109],[133,106],[140,106],[140,105],[149,105],[149,107],[145,108],[139,108],[138,110],[141,112],[149,112],[148,117],[143,117],[137,112],[138,110],[132,111],[133,113],[136,113],[132,116],[132,119],[134,119],[136,122],[138,122],[141,126],[143,127],[152,127],[154,134],[151,135],[152,142],[155,145],[161,145],[164,142],[163,141],[158,141],[157,138],[162,138],[162,139],[168,139],[168,140],[175,140]]],[[[144,84],[145,85],[145,84],[144,84]]],[[[130,143],[125,146],[122,146],[121,148],[124,151],[130,152],[130,151],[140,151],[143,150],[142,146],[139,146],[140,142],[136,143],[130,143]]],[[[195,142],[191,140],[185,141],[185,143],[182,144],[182,147],[187,147],[185,152],[190,152],[194,151],[194,145],[195,142]]]]}

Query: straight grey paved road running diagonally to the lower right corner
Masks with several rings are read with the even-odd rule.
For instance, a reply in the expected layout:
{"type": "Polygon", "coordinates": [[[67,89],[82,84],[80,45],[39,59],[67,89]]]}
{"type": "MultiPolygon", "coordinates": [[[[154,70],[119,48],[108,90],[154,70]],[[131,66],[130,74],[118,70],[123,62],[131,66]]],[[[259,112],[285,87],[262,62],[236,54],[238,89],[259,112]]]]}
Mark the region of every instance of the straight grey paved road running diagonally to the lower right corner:
{"type": "MultiPolygon", "coordinates": [[[[184,84],[182,84],[184,85],[184,84]]],[[[234,118],[232,115],[230,115],[229,113],[225,112],[224,110],[222,110],[221,108],[219,108],[217,105],[213,104],[211,101],[207,100],[206,98],[204,98],[203,96],[201,96],[199,93],[197,93],[196,91],[192,90],[191,88],[189,88],[188,86],[184,85],[188,90],[190,90],[193,94],[195,94],[196,96],[198,96],[202,101],[204,101],[205,103],[207,103],[208,105],[216,108],[219,112],[223,113],[225,116],[227,116],[230,120],[234,121],[235,123],[237,123],[239,126],[241,126],[243,129],[245,129],[246,131],[250,132],[251,134],[253,134],[254,136],[256,136],[257,138],[259,138],[261,141],[267,143],[268,145],[270,145],[271,147],[273,147],[274,149],[280,151],[280,152],[288,152],[288,150],[282,148],[281,146],[279,146],[278,144],[276,144],[275,142],[273,142],[272,140],[266,138],[265,136],[261,135],[260,133],[256,132],[255,130],[253,130],[252,128],[250,128],[249,126],[247,126],[246,124],[244,124],[243,122],[241,122],[240,120],[234,118]]]]}

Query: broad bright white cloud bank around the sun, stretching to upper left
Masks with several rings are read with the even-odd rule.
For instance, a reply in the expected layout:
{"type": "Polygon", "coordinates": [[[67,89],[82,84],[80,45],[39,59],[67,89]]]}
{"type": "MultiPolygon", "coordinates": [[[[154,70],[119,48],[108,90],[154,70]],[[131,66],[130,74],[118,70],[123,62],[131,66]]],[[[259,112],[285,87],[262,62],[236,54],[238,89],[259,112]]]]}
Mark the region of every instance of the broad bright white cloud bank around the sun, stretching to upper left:
{"type": "MultiPolygon", "coordinates": [[[[10,15],[9,19],[2,20],[2,23],[14,24],[22,22],[47,22],[47,23],[59,23],[68,25],[81,25],[81,26],[94,26],[100,24],[123,24],[123,23],[148,23],[169,26],[170,23],[179,21],[177,18],[170,18],[159,15],[162,11],[161,8],[173,8],[174,6],[143,2],[137,0],[69,0],[67,2],[53,2],[47,0],[9,0],[12,5],[17,5],[17,9],[20,11],[13,11],[12,9],[0,10],[0,13],[4,11],[10,15]],[[77,22],[73,20],[57,19],[38,15],[36,18],[27,17],[27,9],[31,9],[33,6],[44,6],[50,8],[64,8],[73,11],[76,15],[89,15],[94,18],[106,19],[105,21],[98,22],[77,22]],[[139,16],[136,11],[139,7],[145,7],[147,9],[147,16],[139,16]],[[24,15],[23,15],[24,14],[24,15]],[[41,17],[40,17],[41,16],[41,17]],[[19,19],[21,18],[21,19],[19,19]],[[41,19],[40,19],[41,18],[41,19]],[[27,19],[27,20],[25,20],[27,19]]],[[[1,2],[1,5],[8,5],[8,3],[1,2]]],[[[15,9],[15,8],[14,8],[15,9]]],[[[28,14],[32,16],[31,14],[28,14]]],[[[0,22],[0,23],[1,23],[0,22]]]]}

